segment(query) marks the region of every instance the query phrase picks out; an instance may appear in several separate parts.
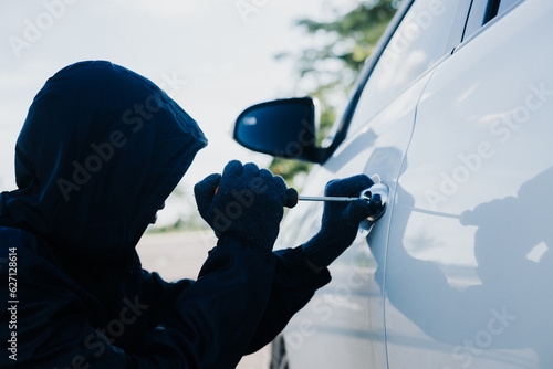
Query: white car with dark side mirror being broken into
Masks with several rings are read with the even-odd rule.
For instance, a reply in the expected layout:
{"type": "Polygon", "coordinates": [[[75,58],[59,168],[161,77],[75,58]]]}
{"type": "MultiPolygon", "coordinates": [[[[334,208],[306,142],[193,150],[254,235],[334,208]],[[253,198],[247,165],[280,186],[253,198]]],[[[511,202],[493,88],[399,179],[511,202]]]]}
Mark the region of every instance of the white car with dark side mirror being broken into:
{"type": "MultiPolygon", "coordinates": [[[[274,344],[274,368],[553,368],[553,1],[404,1],[332,144],[310,98],[259,104],[234,137],[389,189],[274,344]],[[374,177],[377,179],[377,177],[374,177]]],[[[278,246],[323,205],[290,210],[278,246]]]]}

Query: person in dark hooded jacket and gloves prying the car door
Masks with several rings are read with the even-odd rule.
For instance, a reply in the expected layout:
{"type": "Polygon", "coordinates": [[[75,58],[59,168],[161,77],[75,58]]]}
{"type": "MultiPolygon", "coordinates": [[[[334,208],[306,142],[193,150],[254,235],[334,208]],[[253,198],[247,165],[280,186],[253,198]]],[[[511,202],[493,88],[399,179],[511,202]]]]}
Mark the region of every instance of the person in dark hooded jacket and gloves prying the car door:
{"type": "MultiPolygon", "coordinates": [[[[142,268],[137,242],[206,145],[122,66],[81,62],[45,83],[15,146],[18,189],[0,194],[2,368],[234,368],[330,281],[369,204],[325,209],[310,242],[272,252],[286,187],[239,161],[195,187],[219,238],[197,281],[142,268]]],[[[356,176],[330,192],[368,184],[356,176]]]]}

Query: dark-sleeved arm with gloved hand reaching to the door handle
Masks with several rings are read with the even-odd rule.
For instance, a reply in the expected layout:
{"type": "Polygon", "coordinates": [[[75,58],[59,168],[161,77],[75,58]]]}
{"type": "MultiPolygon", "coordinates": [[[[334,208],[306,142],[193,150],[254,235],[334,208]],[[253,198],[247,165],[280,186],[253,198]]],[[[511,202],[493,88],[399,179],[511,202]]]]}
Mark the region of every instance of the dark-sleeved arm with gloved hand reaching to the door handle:
{"type": "MultiPolygon", "coordinates": [[[[333,180],[325,194],[355,197],[371,184],[371,179],[363,175],[333,180]]],[[[302,246],[273,253],[276,266],[271,297],[248,352],[269,344],[315,291],[331,281],[326,266],[352,244],[359,222],[377,211],[377,201],[327,202],[321,231],[315,236],[302,246]]]]}

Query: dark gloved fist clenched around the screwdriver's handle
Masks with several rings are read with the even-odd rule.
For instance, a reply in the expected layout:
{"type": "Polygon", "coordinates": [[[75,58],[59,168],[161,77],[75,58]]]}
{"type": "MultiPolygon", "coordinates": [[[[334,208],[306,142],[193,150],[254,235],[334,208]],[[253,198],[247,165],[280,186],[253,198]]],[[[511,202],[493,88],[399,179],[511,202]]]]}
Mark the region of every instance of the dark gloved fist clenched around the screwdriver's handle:
{"type": "Polygon", "coordinates": [[[232,235],[265,250],[272,250],[279,234],[285,192],[281,177],[238,160],[194,188],[198,211],[218,238],[232,235]]]}

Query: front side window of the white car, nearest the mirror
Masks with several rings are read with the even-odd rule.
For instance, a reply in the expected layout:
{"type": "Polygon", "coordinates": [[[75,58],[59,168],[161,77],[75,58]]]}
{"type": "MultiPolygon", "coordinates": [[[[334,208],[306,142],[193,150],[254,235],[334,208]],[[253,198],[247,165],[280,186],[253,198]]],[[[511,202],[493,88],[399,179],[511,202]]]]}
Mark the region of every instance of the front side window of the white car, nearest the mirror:
{"type": "Polygon", "coordinates": [[[457,1],[418,0],[376,64],[349,125],[354,133],[447,52],[457,1]]]}

